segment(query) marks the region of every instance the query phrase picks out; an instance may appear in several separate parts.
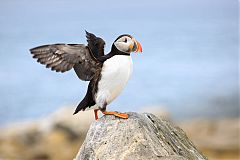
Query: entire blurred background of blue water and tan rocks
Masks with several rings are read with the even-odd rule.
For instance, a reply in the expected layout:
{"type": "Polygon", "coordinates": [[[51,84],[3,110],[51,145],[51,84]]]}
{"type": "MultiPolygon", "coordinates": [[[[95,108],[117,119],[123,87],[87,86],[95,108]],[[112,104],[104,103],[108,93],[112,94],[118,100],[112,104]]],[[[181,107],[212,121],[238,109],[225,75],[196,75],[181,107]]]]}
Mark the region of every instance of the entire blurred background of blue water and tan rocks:
{"type": "Polygon", "coordinates": [[[84,30],[105,40],[106,53],[124,33],[143,47],[109,110],[167,115],[209,158],[238,159],[238,8],[236,0],[1,0],[0,159],[76,154],[93,114],[72,113],[88,83],[46,69],[29,49],[86,44],[84,30]],[[50,151],[73,148],[70,133],[74,149],[50,151]]]}

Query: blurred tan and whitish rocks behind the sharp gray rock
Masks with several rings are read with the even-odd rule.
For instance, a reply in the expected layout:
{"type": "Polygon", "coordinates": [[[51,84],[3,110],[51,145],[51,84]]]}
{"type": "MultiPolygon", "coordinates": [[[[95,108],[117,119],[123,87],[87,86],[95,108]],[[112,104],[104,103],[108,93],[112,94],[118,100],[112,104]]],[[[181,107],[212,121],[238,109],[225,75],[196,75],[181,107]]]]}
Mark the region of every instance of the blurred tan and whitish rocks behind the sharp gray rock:
{"type": "MultiPolygon", "coordinates": [[[[69,160],[76,157],[89,126],[95,120],[93,111],[73,116],[74,110],[75,107],[64,107],[39,120],[0,126],[0,160],[69,160]]],[[[146,111],[171,120],[166,116],[169,114],[162,114],[166,112],[161,106],[150,106],[146,111]]],[[[209,159],[240,159],[239,117],[191,119],[175,123],[209,159]]]]}

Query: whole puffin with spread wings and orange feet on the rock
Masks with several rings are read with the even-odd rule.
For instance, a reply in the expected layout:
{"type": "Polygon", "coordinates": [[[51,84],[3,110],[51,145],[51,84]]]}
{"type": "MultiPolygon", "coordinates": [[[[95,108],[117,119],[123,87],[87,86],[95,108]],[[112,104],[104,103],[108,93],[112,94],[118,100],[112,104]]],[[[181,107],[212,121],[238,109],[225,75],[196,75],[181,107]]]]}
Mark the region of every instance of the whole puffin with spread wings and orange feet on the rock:
{"type": "Polygon", "coordinates": [[[131,52],[142,52],[141,44],[129,34],[117,37],[111,51],[104,54],[105,41],[86,31],[87,45],[50,44],[30,49],[37,62],[56,72],[66,72],[72,68],[78,78],[90,81],[85,97],[73,114],[79,111],[94,110],[105,115],[128,118],[127,113],[106,111],[109,105],[123,90],[132,74],[131,52]]]}

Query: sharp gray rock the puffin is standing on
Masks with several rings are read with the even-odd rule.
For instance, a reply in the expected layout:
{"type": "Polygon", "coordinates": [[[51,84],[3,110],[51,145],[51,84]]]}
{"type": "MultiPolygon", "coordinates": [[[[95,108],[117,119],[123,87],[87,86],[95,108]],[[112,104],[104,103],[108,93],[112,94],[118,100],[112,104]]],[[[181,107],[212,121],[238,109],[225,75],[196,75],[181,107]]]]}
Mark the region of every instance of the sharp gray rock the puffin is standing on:
{"type": "Polygon", "coordinates": [[[153,114],[103,116],[92,123],[75,160],[207,159],[170,122],[153,114]]]}

